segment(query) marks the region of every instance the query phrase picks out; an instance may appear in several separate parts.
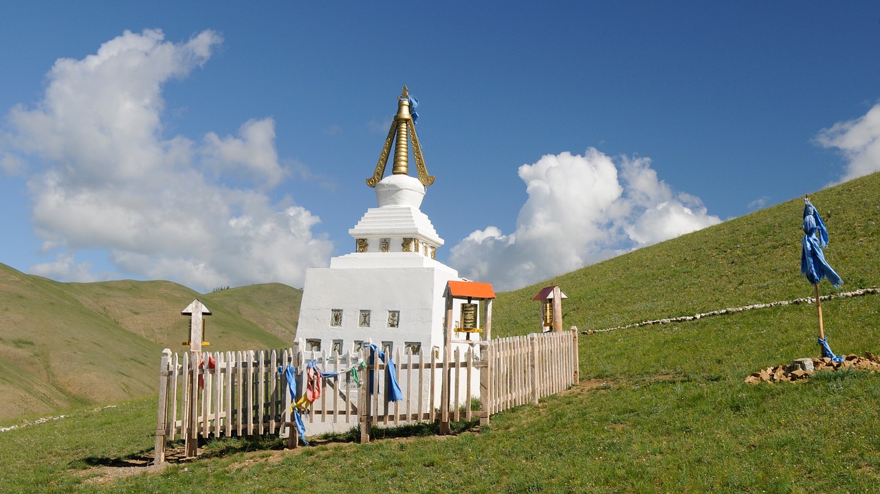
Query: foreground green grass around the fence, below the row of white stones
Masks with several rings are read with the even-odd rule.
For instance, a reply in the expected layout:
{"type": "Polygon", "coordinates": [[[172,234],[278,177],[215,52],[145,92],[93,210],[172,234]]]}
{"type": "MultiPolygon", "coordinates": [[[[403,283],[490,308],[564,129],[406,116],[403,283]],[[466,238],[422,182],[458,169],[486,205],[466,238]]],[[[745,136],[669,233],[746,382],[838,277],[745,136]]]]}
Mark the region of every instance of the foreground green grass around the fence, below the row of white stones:
{"type": "MultiPolygon", "coordinates": [[[[831,323],[840,315],[877,320],[869,297],[828,305],[831,323]]],[[[0,482],[11,481],[12,492],[42,485],[84,492],[876,492],[880,374],[744,383],[760,367],[815,354],[812,328],[798,323],[809,320],[809,309],[584,336],[582,385],[445,439],[413,430],[368,445],[317,441],[293,451],[281,451],[273,438],[218,440],[198,461],[161,473],[84,483],[99,475],[90,469],[149,454],[155,404],[75,411],[4,432],[0,482]]],[[[836,333],[841,352],[876,341],[867,327],[836,333]]]]}

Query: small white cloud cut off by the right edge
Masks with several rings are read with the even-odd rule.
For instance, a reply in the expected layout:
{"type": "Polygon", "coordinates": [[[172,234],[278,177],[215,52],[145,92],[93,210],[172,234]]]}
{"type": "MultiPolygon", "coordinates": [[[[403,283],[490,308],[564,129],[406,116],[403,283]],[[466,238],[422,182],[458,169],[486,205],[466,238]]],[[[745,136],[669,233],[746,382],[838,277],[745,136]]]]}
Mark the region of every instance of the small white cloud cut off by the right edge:
{"type": "Polygon", "coordinates": [[[816,142],[824,148],[840,149],[847,158],[841,182],[880,171],[880,104],[858,119],[822,129],[816,142]]]}

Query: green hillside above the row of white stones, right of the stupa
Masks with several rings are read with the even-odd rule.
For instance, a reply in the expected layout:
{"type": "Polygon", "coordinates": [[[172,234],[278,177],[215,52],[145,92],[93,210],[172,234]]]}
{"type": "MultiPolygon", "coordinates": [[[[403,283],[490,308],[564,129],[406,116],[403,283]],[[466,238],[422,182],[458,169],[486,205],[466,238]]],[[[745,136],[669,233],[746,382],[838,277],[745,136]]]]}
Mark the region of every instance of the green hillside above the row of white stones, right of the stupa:
{"type": "MultiPolygon", "coordinates": [[[[825,257],[841,291],[880,285],[880,173],[810,194],[829,230],[825,257]]],[[[599,330],[813,294],[800,272],[803,199],[789,200],[532,287],[502,294],[500,336],[536,331],[541,287],[568,294],[563,325],[599,330]]],[[[823,281],[820,294],[836,290],[823,281]]],[[[878,322],[880,323],[880,322],[878,322]]]]}

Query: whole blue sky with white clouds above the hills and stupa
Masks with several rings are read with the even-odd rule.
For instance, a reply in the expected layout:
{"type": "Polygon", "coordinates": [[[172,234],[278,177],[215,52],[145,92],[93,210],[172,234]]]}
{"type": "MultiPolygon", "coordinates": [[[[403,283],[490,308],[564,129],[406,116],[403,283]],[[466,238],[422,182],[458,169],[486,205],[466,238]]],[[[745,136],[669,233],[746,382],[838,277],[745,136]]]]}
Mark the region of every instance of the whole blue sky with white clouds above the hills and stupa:
{"type": "Polygon", "coordinates": [[[3,11],[0,262],[56,280],[302,287],[404,84],[437,257],[498,289],[880,170],[876,3],[3,11]]]}

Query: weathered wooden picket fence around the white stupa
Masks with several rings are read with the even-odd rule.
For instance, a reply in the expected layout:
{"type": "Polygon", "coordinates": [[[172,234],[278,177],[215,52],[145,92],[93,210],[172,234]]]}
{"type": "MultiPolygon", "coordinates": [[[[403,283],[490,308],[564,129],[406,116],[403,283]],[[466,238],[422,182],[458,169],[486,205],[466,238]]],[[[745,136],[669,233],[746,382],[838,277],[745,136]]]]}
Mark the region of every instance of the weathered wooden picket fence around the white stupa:
{"type": "MultiPolygon", "coordinates": [[[[370,351],[323,355],[292,348],[246,352],[184,352],[165,349],[159,381],[155,461],[165,461],[169,440],[185,440],[187,456],[197,453],[199,438],[261,434],[287,437],[296,447],[298,434],[291,418],[290,396],[283,371],[292,366],[297,394],[304,389],[307,364],[325,373],[323,392],[304,414],[306,431],[322,425],[351,429],[360,426],[361,440],[370,440],[373,426],[413,422],[473,420],[526,403],[538,403],[578,380],[577,331],[475,341],[457,345],[445,362],[429,355],[392,358],[403,398],[386,399],[387,364],[370,359],[370,351]],[[355,372],[351,372],[354,369],[355,372]],[[479,396],[474,410],[472,397],[479,396]]],[[[445,427],[444,427],[445,425],[445,427]]]]}

